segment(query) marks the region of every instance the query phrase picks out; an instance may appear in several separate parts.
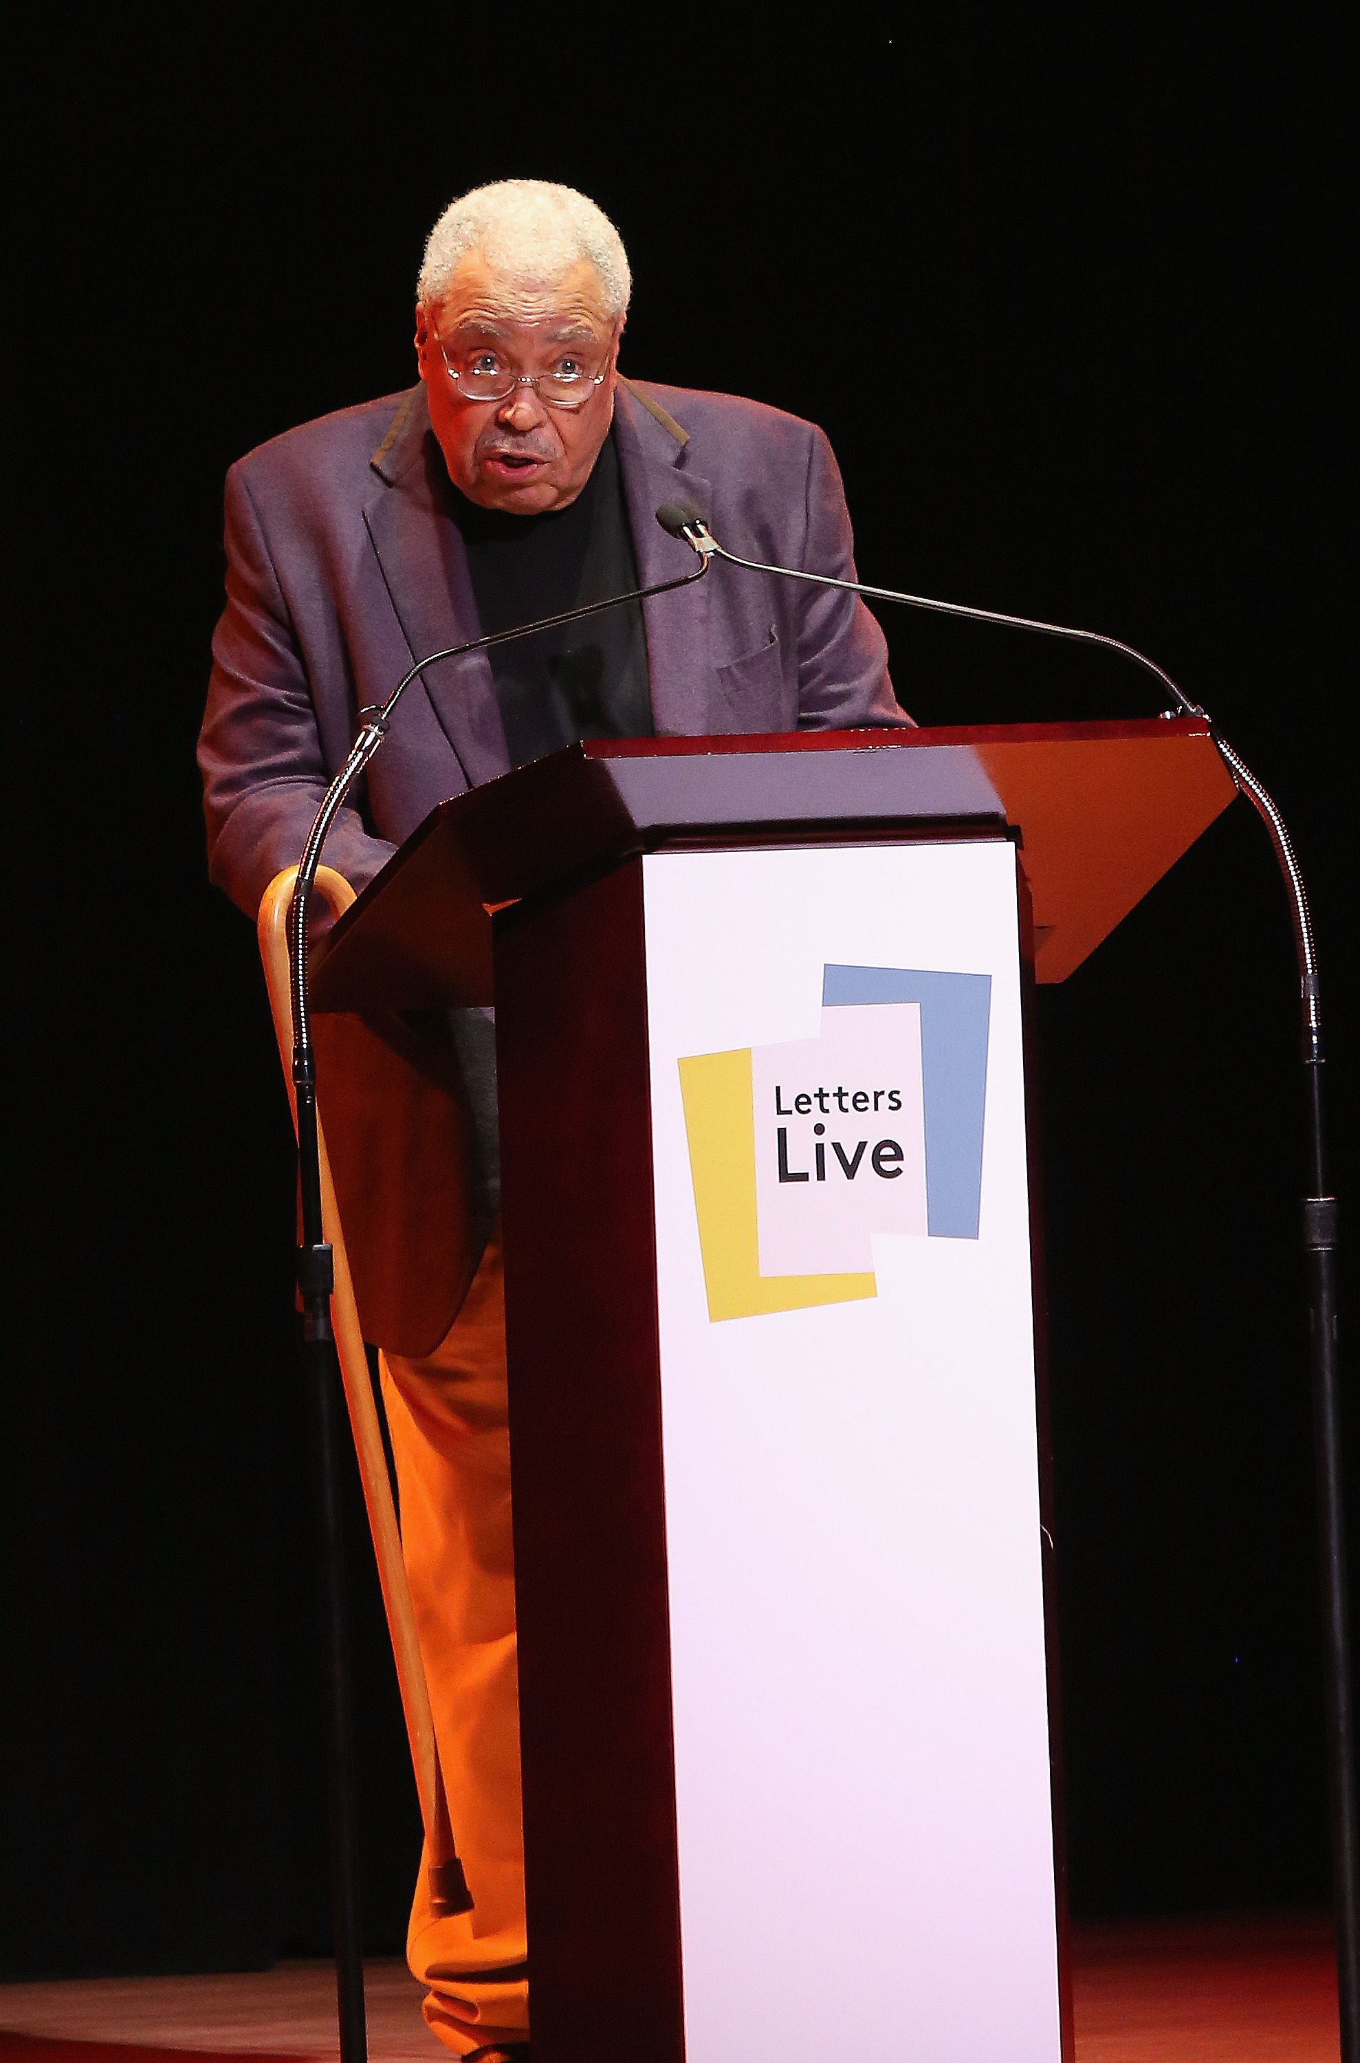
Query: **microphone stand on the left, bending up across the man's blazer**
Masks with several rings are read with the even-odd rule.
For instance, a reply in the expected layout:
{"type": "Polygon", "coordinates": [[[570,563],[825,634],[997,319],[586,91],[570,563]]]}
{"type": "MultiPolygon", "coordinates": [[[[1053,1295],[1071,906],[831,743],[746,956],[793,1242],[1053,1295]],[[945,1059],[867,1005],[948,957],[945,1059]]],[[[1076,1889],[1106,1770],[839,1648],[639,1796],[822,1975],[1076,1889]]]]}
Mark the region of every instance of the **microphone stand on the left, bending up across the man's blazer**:
{"type": "MultiPolygon", "coordinates": [[[[328,1745],[328,1787],[330,1787],[330,1869],[334,1908],[334,1952],[336,1952],[336,2005],[341,2022],[341,2063],[367,2063],[367,2022],[363,2011],[363,1919],[359,1906],[359,1811],[355,1784],[355,1727],[349,1692],[349,1619],[345,1603],[345,1537],[341,1522],[341,1436],[338,1436],[338,1390],[341,1366],[336,1357],[334,1333],[330,1329],[330,1291],[334,1287],[334,1256],[322,1225],[322,1164],[316,1118],[316,1052],[312,1048],[312,1025],[307,1005],[307,912],[316,869],[320,866],[326,833],[334,823],[345,796],[351,792],[365,765],[382,745],[392,710],[419,673],[444,658],[462,658],[468,652],[487,652],[491,646],[510,644],[514,637],[528,637],[535,631],[557,629],[582,617],[594,617],[603,609],[617,609],[623,602],[644,602],[654,594],[671,594],[675,588],[691,588],[708,571],[708,555],[700,551],[698,574],[683,580],[662,580],[650,588],[636,588],[632,594],[611,594],[603,602],[586,602],[582,609],[565,609],[537,623],[522,623],[512,631],[493,631],[487,637],[473,637],[468,644],[448,646],[431,652],[396,683],[384,703],[361,710],[367,716],[363,730],[349,749],[345,765],[330,782],[322,807],[316,813],[307,844],[297,869],[293,889],[293,910],[289,916],[289,959],[293,976],[293,1087],[297,1091],[297,1170],[301,1184],[301,1246],[297,1248],[297,1289],[301,1296],[301,1353],[307,1378],[307,1403],[312,1415],[312,1446],[316,1463],[318,1500],[318,1545],[320,1545],[320,1586],[322,1586],[322,1642],[326,1679],[326,1745],[328,1745]]],[[[444,1865],[440,1886],[442,1912],[471,1912],[473,1894],[466,1888],[462,1865],[456,1853],[444,1865]]]]}

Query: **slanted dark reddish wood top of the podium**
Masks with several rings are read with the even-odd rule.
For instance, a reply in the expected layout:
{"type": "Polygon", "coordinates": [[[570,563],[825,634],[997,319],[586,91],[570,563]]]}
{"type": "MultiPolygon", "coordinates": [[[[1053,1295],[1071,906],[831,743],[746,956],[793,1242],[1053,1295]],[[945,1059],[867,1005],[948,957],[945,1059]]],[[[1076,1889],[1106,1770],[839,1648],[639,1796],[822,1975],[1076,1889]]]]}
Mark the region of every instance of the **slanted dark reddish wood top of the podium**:
{"type": "Polygon", "coordinates": [[[586,739],[431,811],[318,947],[314,1007],[489,1003],[487,906],[629,854],[1007,829],[1061,982],[1234,794],[1197,718],[586,739]]]}

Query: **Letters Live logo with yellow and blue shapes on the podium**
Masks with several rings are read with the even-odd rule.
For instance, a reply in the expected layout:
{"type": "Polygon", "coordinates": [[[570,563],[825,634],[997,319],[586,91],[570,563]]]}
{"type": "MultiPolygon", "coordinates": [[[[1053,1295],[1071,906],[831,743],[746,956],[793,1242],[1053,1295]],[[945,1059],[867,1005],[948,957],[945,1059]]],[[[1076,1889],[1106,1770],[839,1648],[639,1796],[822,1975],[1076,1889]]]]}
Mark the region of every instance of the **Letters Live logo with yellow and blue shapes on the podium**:
{"type": "Polygon", "coordinates": [[[989,1013],[989,974],[828,965],[817,1038],[679,1062],[710,1318],[875,1296],[875,1234],[976,1240],[989,1013]]]}

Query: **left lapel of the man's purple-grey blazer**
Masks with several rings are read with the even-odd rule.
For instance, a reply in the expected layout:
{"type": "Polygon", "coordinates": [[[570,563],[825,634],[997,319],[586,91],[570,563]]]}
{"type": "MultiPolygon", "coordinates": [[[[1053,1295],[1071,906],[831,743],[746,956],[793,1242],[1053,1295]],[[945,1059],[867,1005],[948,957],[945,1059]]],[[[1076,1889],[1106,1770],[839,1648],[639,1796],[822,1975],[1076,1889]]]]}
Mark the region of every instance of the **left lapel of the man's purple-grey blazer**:
{"type": "MultiPolygon", "coordinates": [[[[411,658],[481,635],[458,526],[444,507],[444,454],[417,386],[374,452],[382,485],[363,510],[411,658]]],[[[660,534],[660,532],[658,532],[660,534]]],[[[491,662],[485,652],[440,660],[421,675],[468,788],[510,772],[491,662]]],[[[407,693],[413,693],[415,683],[407,693]]]]}

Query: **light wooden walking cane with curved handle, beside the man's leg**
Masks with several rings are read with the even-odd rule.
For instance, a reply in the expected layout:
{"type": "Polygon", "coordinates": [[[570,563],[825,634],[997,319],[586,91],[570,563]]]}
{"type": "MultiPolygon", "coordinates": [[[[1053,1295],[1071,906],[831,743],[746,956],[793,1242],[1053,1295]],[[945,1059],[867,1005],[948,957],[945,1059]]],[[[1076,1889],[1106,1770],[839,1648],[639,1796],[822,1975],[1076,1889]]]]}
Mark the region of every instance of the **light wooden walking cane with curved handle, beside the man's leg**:
{"type": "MultiPolygon", "coordinates": [[[[274,875],[264,891],[264,899],[260,902],[258,935],[264,978],[268,984],[268,1001],[274,1013],[274,1034],[279,1038],[283,1077],[289,1091],[289,1104],[293,1108],[293,1124],[297,1126],[297,1100],[293,1091],[293,1005],[289,994],[289,908],[293,902],[295,879],[295,866],[274,875]]],[[[341,912],[355,899],[355,891],[349,881],[345,881],[345,877],[330,866],[318,869],[316,887],[330,904],[334,916],[341,916],[341,912]]],[[[334,1250],[330,1318],[341,1362],[341,1378],[345,1384],[345,1403],[349,1407],[349,1423],[355,1436],[355,1454],[359,1456],[363,1502],[367,1506],[374,1553],[378,1558],[378,1582],[388,1617],[388,1634],[392,1636],[396,1681],[407,1718],[407,1737],[411,1741],[411,1762],[415,1766],[415,1787],[421,1801],[425,1851],[429,1857],[429,1902],[435,1912],[466,1912],[473,1900],[466,1890],[458,1851],[454,1846],[448,1801],[444,1795],[440,1749],[433,1731],[433,1714],[429,1710],[429,1685],[425,1681],[425,1663],[421,1659],[421,1644],[415,1626],[415,1607],[411,1603],[396,1508],[392,1504],[392,1485],[388,1481],[388,1461],[382,1444],[374,1388],[369,1382],[355,1285],[349,1256],[345,1252],[345,1232],[341,1227],[341,1213],[324,1135],[320,1139],[320,1159],[322,1219],[326,1240],[334,1250]]]]}

